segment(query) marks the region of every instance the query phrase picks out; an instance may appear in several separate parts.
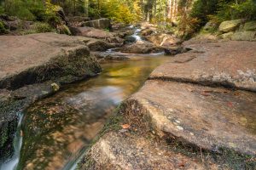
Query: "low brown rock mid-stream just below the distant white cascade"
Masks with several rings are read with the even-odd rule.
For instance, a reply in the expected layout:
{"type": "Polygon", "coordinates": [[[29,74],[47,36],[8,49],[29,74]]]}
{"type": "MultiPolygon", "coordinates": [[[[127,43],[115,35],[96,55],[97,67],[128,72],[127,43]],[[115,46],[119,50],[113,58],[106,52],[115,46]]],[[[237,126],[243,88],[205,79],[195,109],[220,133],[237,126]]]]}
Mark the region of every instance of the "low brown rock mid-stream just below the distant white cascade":
{"type": "Polygon", "coordinates": [[[150,54],[163,52],[164,48],[157,47],[151,42],[137,41],[136,43],[125,45],[120,51],[130,54],[150,54]]]}

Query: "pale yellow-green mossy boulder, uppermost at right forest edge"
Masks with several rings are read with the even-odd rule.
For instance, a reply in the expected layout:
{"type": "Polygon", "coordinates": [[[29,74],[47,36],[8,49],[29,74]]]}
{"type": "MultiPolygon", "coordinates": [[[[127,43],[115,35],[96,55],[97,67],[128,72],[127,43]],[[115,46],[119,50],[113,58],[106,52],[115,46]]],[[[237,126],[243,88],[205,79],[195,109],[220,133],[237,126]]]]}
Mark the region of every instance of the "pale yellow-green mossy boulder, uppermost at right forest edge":
{"type": "Polygon", "coordinates": [[[238,28],[244,22],[245,22],[245,20],[243,20],[243,19],[226,20],[220,24],[220,26],[218,27],[218,31],[222,31],[222,32],[235,31],[236,28],[238,28]]]}

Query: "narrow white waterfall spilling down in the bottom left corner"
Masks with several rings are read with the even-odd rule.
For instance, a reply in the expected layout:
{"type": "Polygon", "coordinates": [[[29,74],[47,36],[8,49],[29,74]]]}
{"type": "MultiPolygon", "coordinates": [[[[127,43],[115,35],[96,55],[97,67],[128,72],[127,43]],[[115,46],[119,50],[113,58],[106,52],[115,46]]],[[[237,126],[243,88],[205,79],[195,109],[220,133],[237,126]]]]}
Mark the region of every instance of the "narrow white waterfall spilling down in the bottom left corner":
{"type": "Polygon", "coordinates": [[[23,115],[19,113],[20,119],[18,122],[17,132],[15,134],[14,139],[14,148],[15,148],[15,154],[14,156],[9,160],[3,163],[3,165],[0,165],[0,170],[15,170],[19,159],[20,159],[20,149],[22,144],[22,134],[21,134],[21,121],[23,118],[23,115]]]}

